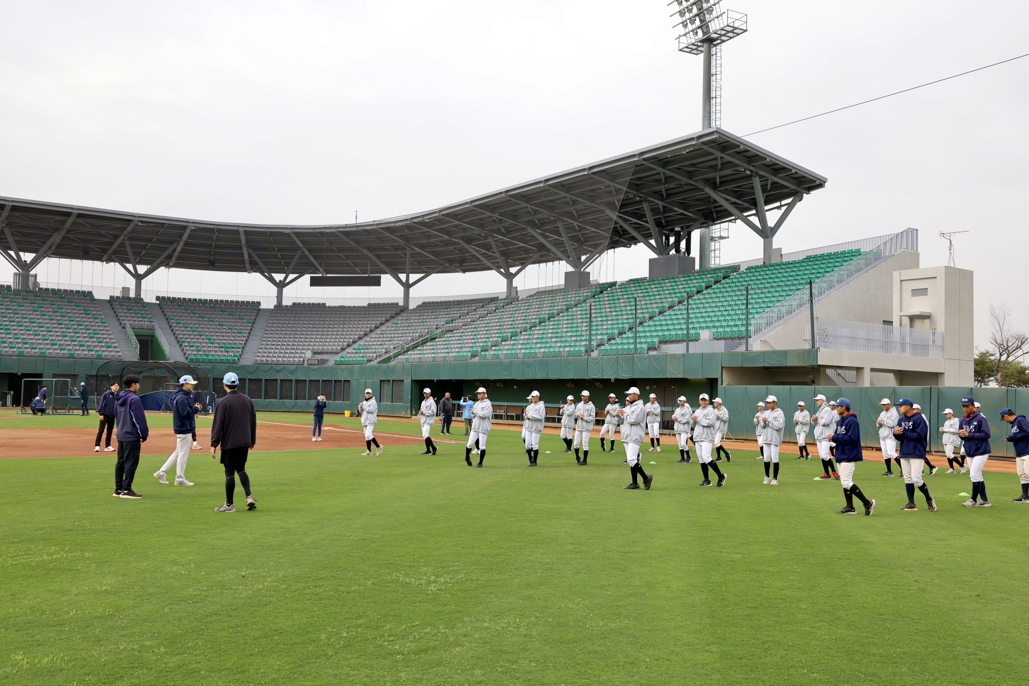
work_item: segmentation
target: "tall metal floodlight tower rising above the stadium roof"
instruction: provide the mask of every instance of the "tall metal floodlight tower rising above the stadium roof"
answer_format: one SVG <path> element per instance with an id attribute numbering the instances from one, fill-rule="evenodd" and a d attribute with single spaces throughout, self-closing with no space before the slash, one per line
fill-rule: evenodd
<path id="1" fill-rule="evenodd" d="M 720 45 L 747 32 L 747 15 L 724 9 L 721 0 L 671 0 L 680 52 L 704 56 L 701 130 L 721 123 Z"/>

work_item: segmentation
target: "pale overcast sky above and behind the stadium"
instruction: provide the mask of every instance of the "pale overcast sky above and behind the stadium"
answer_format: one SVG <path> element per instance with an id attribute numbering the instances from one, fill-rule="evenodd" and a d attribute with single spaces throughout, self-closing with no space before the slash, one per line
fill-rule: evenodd
<path id="1" fill-rule="evenodd" d="M 1029 52 L 1026 2 L 726 5 L 750 28 L 723 51 L 722 128 L 736 135 Z M 701 59 L 676 51 L 665 0 L 2 7 L 4 195 L 254 223 L 377 219 L 700 129 Z M 753 136 L 829 180 L 777 245 L 914 226 L 932 266 L 947 260 L 939 231 L 968 230 L 955 244 L 958 265 L 975 270 L 977 344 L 989 302 L 1010 303 L 1029 328 L 1027 85 L 1029 58 Z M 738 226 L 725 263 L 760 256 Z M 648 257 L 609 254 L 594 276 L 645 276 Z M 127 283 L 112 265 L 61 269 L 63 281 Z M 530 268 L 519 285 L 560 283 L 563 270 Z M 56 281 L 58 265 L 38 272 Z M 372 295 L 399 292 L 383 283 Z M 178 269 L 144 288 L 271 289 L 256 275 Z M 502 288 L 492 273 L 435 276 L 413 295 Z"/>

